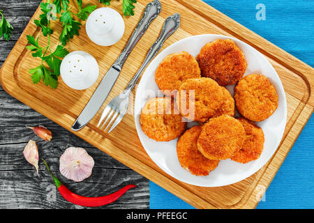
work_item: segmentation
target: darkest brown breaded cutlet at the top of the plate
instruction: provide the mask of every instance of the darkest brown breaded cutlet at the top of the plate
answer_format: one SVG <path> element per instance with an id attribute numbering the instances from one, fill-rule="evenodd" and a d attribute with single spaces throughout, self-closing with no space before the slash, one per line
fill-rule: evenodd
<path id="1" fill-rule="evenodd" d="M 207 43 L 196 59 L 202 76 L 211 77 L 221 86 L 236 84 L 246 72 L 244 53 L 230 39 Z"/>

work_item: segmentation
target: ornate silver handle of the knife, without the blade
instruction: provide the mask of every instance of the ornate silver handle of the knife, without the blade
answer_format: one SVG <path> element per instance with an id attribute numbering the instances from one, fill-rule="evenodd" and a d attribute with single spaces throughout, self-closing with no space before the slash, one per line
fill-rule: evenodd
<path id="1" fill-rule="evenodd" d="M 130 40 L 128 40 L 126 47 L 124 47 L 124 50 L 121 52 L 117 61 L 114 62 L 114 68 L 121 70 L 122 66 L 124 66 L 124 62 L 126 62 L 126 59 L 128 58 L 128 55 L 135 47 L 138 40 L 140 40 L 140 38 L 147 31 L 147 28 L 151 22 L 157 17 L 157 15 L 159 15 L 160 10 L 161 3 L 159 0 L 151 1 L 151 3 L 147 4 L 142 19 L 137 24 L 135 30 L 132 33 L 132 36 L 130 37 Z"/>

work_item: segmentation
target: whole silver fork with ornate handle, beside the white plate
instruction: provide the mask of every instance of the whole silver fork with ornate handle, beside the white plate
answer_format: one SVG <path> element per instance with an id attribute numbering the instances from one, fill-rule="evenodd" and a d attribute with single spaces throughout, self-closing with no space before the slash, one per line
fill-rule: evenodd
<path id="1" fill-rule="evenodd" d="M 107 123 L 107 121 L 109 121 L 109 123 L 107 123 L 105 130 L 104 130 L 104 131 L 106 131 L 107 128 L 109 128 L 109 126 L 111 125 L 111 123 L 114 120 L 115 121 L 112 124 L 108 133 L 110 133 L 114 128 L 116 128 L 116 126 L 120 123 L 120 121 L 122 120 L 122 118 L 124 117 L 124 115 L 126 114 L 126 112 L 128 110 L 128 102 L 129 102 L 128 98 L 129 98 L 130 92 L 132 91 L 135 84 L 137 83 L 137 80 L 140 78 L 140 76 L 142 75 L 142 72 L 147 67 L 149 62 L 159 52 L 159 50 L 163 46 L 163 43 L 165 43 L 165 40 L 167 40 L 167 38 L 169 36 L 171 36 L 172 33 L 174 33 L 174 31 L 176 31 L 179 28 L 179 26 L 180 26 L 180 15 L 179 15 L 179 13 L 175 13 L 174 15 L 167 17 L 167 19 L 165 20 L 165 22 L 163 24 L 163 29 L 160 33 L 160 36 L 158 37 L 156 42 L 149 49 L 149 52 L 147 53 L 147 56 L 144 60 L 144 63 L 142 64 L 140 69 L 137 70 L 137 73 L 135 74 L 133 79 L 131 79 L 131 81 L 128 84 L 128 86 L 126 87 L 126 89 L 122 93 L 117 95 L 115 98 L 113 98 L 109 102 L 107 107 L 105 107 L 103 114 L 100 117 L 100 120 L 98 122 L 97 127 L 100 125 L 100 123 L 102 123 L 103 119 L 107 117 L 105 119 L 103 125 L 101 126 L 101 128 L 103 128 L 105 126 L 105 124 Z"/>

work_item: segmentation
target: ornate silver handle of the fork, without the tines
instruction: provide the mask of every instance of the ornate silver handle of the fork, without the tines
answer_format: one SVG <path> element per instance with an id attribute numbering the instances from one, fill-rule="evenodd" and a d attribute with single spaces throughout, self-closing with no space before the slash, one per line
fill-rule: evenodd
<path id="1" fill-rule="evenodd" d="M 142 63 L 142 66 L 137 71 L 133 79 L 131 79 L 130 83 L 126 87 L 125 92 L 129 93 L 130 91 L 132 91 L 137 80 L 142 75 L 142 72 L 144 71 L 146 66 L 154 58 L 154 56 L 156 56 L 156 54 L 159 52 L 161 47 L 163 47 L 163 43 L 165 43 L 165 40 L 167 40 L 167 38 L 171 36 L 172 33 L 174 33 L 174 31 L 176 31 L 179 28 L 179 26 L 180 26 L 180 14 L 179 13 L 175 13 L 174 15 L 167 17 L 167 19 L 165 20 L 165 23 L 163 24 L 163 29 L 160 33 L 160 36 L 158 37 L 156 42 L 151 46 L 151 49 L 149 49 L 149 52 L 144 62 Z"/>

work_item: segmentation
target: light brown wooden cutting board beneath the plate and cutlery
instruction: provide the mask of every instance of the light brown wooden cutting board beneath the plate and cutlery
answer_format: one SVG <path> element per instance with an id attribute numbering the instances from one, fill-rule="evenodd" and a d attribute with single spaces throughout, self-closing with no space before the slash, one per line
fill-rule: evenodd
<path id="1" fill-rule="evenodd" d="M 102 6 L 96 0 L 85 2 L 97 4 L 98 7 Z M 3 63 L 0 70 L 3 89 L 37 112 L 71 131 L 71 125 L 87 104 L 100 79 L 103 78 L 105 72 L 126 45 L 130 34 L 142 17 L 147 3 L 149 3 L 149 0 L 138 1 L 135 16 L 124 17 L 126 31 L 119 43 L 111 47 L 99 47 L 91 43 L 87 33 L 82 28 L 80 36 L 75 36 L 66 45 L 69 52 L 84 50 L 94 55 L 100 66 L 100 76 L 97 83 L 84 91 L 75 91 L 68 88 L 61 78 L 59 78 L 59 86 L 56 90 L 50 89 L 43 83 L 33 84 L 31 82 L 29 68 L 38 66 L 40 61 L 33 59 L 30 52 L 25 49 L 27 45 L 26 36 L 28 34 L 36 38 L 40 36 L 40 45 L 44 45 L 47 41 L 47 38 L 43 37 L 40 30 L 33 23 L 33 20 L 38 19 L 40 15 L 40 9 L 38 8 L 12 52 L 10 52 L 8 59 Z M 112 1 L 110 7 L 121 12 L 121 1 Z M 262 169 L 239 183 L 224 187 L 197 187 L 182 183 L 165 174 L 154 164 L 142 148 L 135 130 L 134 116 L 131 114 L 126 115 L 110 134 L 106 134 L 96 127 L 107 102 L 119 94 L 135 75 L 135 72 L 144 61 L 144 56 L 147 54 L 149 47 L 158 37 L 165 18 L 173 13 L 181 14 L 181 26 L 165 42 L 163 49 L 182 38 L 197 34 L 215 33 L 233 36 L 264 54 L 276 69 L 283 83 L 287 98 L 287 125 L 281 144 L 271 160 Z M 55 22 L 52 29 L 54 29 L 54 35 L 52 35 L 51 42 L 52 49 L 54 49 L 57 46 L 59 33 L 61 32 L 59 22 Z M 241 26 L 241 24 L 234 22 L 218 10 L 211 8 L 207 3 L 200 0 L 165 0 L 162 1 L 160 15 L 152 22 L 147 33 L 144 34 L 128 57 L 117 83 L 100 112 L 85 128 L 73 133 L 196 208 L 255 208 L 313 112 L 313 86 L 313 68 Z M 133 94 L 135 95 L 135 90 Z M 133 103 L 131 104 L 133 105 Z M 133 106 L 130 106 L 129 109 L 131 113 Z"/>

